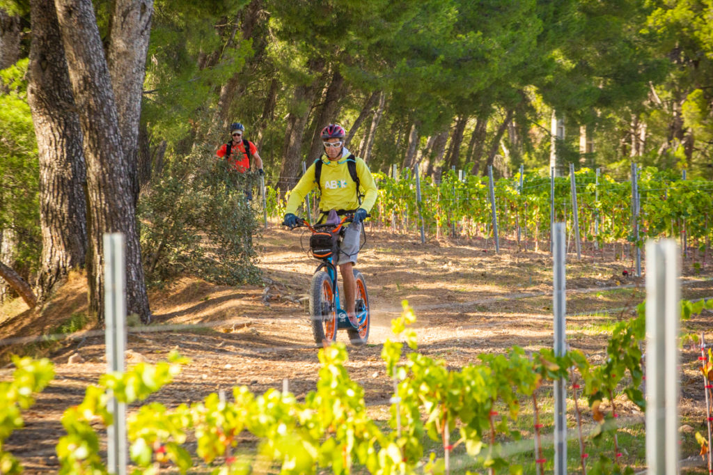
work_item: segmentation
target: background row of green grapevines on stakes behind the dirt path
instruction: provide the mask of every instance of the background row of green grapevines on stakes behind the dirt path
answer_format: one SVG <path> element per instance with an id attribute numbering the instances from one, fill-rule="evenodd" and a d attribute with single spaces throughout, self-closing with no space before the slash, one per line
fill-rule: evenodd
<path id="1" fill-rule="evenodd" d="M 596 183 L 593 170 L 575 172 L 579 225 L 583 241 L 600 244 L 633 242 L 643 245 L 647 238 L 679 237 L 688 234 L 689 242 L 699 244 L 713 239 L 709 225 L 713 197 L 709 182 L 680 180 L 671 170 L 647 167 L 640 173 L 641 210 L 640 236 L 632 235 L 631 184 L 615 181 L 610 175 L 600 175 Z M 405 170 L 397 180 L 383 173 L 374 173 L 379 198 L 371 210 L 372 220 L 390 227 L 408 230 L 419 222 L 416 206 L 416 180 Z M 518 190 L 519 176 L 501 178 L 494 185 L 498 226 L 501 235 L 515 233 L 517 226 L 525 228 L 528 238 L 548 239 L 550 233 L 550 179 L 538 174 L 523 177 L 523 192 Z M 555 178 L 555 221 L 572 225 L 571 187 L 569 177 Z M 276 193 L 270 190 L 268 195 Z M 421 180 L 421 214 L 426 233 L 448 233 L 451 223 L 458 223 L 463 233 L 473 237 L 491 235 L 491 205 L 488 198 L 488 178 L 464 175 L 463 181 L 453 171 L 443 174 L 441 183 L 431 178 Z M 268 213 L 282 217 L 277 205 Z M 598 233 L 595 222 L 598 220 Z"/>

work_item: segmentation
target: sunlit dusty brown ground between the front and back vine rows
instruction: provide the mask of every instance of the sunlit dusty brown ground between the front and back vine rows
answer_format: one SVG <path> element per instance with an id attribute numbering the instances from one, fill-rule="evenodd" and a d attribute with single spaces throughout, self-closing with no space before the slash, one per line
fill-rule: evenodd
<path id="1" fill-rule="evenodd" d="M 300 302 L 307 295 L 314 261 L 302 252 L 297 232 L 273 229 L 262 242 L 264 286 L 220 287 L 186 277 L 152 292 L 153 324 L 130 332 L 128 363 L 156 362 L 170 349 L 178 349 L 192 362 L 175 383 L 151 400 L 173 406 L 241 384 L 261 393 L 271 387 L 281 389 L 284 379 L 298 398 L 314 389 L 317 348 L 307 305 Z M 548 254 L 515 252 L 513 242 L 503 242 L 496 255 L 483 245 L 466 240 L 431 240 L 421 245 L 416 235 L 369 233 L 358 267 L 366 276 L 371 299 L 371 336 L 366 347 L 349 348 L 348 368 L 365 389 L 372 417 L 388 417 L 391 380 L 384 374 L 379 354 L 390 337 L 390 320 L 399 315 L 404 299 L 416 310 L 421 352 L 445 359 L 454 368 L 475 362 L 483 352 L 506 352 L 514 344 L 528 351 L 551 346 Z M 585 252 L 578 262 L 575 255 L 568 255 L 568 339 L 594 361 L 604 355 L 612 322 L 630 317 L 644 296 L 642 279 L 622 275 L 623 270 L 630 271 L 630 260 L 612 260 L 611 252 L 607 258 Z M 692 261 L 687 262 L 684 275 L 684 297 L 713 297 L 709 267 L 697 273 Z M 21 313 L 19 302 L 7 305 L 0 316 L 0 338 L 52 332 L 71 315 L 86 310 L 84 295 L 83 277 L 72 275 L 40 316 Z M 687 330 L 706 332 L 713 341 L 709 317 L 694 318 Z M 346 333 L 340 332 L 339 339 L 347 342 Z M 63 435 L 61 414 L 80 402 L 86 386 L 105 371 L 103 336 L 80 334 L 51 345 L 11 342 L 0 347 L 0 358 L 11 351 L 43 352 L 56 364 L 56 378 L 39 394 L 36 405 L 24 412 L 26 427 L 8 439 L 5 449 L 21 459 L 26 473 L 57 471 L 54 446 Z M 81 362 L 68 363 L 73 354 L 81 355 Z M 681 407 L 684 419 L 702 420 L 696 357 L 696 349 L 684 347 Z M 11 372 L 9 366 L 0 369 L 0 380 L 10 379 Z M 629 415 L 635 420 L 642 417 L 631 408 Z"/>

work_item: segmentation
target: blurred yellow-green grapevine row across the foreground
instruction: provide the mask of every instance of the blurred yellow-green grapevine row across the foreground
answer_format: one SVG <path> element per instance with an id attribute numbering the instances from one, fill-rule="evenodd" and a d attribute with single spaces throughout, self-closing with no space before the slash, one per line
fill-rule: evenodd
<path id="1" fill-rule="evenodd" d="M 682 316 L 713 307 L 711 302 L 682 302 Z M 411 352 L 403 359 L 404 344 L 387 340 L 382 359 L 387 374 L 394 377 L 396 391 L 391 399 L 391 430 L 384 431 L 366 414 L 364 389 L 349 378 L 344 344 L 319 351 L 317 388 L 304 402 L 293 394 L 269 389 L 252 394 L 235 387 L 232 401 L 210 394 L 202 402 L 168 409 L 151 402 L 128 418 L 130 457 L 135 473 L 158 473 L 173 464 L 180 473 L 193 469 L 193 457 L 185 446 L 195 438 L 195 454 L 212 467 L 212 474 L 247 474 L 279 470 L 284 474 L 314 474 L 320 469 L 352 473 L 364 466 L 374 474 L 443 473 L 445 462 L 436 454 L 424 458 L 424 438 L 442 443 L 446 450 L 463 445 L 478 466 L 496 471 L 522 473 L 523 467 L 503 455 L 503 441 L 519 439 L 515 424 L 520 404 L 532 399 L 541 385 L 570 379 L 576 370 L 585 382 L 583 395 L 590 400 L 599 422 L 593 436 L 602 444 L 603 434 L 615 434 L 617 424 L 613 394 L 623 390 L 642 410 L 645 401 L 638 387 L 642 382 L 640 343 L 645 337 L 645 307 L 638 316 L 619 322 L 607 344 L 606 358 L 598 366 L 579 351 L 557 356 L 551 349 L 528 355 L 519 347 L 508 354 L 481 354 L 479 362 L 450 369 L 446 362 L 417 352 L 416 321 L 404 302 L 401 317 L 391 322 L 398 339 L 405 339 Z M 713 357 L 702 364 L 710 374 Z M 1 442 L 22 421 L 21 409 L 31 406 L 32 392 L 41 390 L 53 377 L 51 363 L 15 357 L 14 380 L 0 383 L 0 461 L 4 473 L 19 473 L 21 467 L 1 451 Z M 113 424 L 108 410 L 108 391 L 127 404 L 143 401 L 169 384 L 188 360 L 170 354 L 169 362 L 140 363 L 124 373 L 106 374 L 98 385 L 88 387 L 81 404 L 66 410 L 62 424 L 67 431 L 57 446 L 61 474 L 106 473 L 99 456 L 96 422 Z M 600 403 L 607 398 L 612 412 L 602 414 Z M 504 408 L 506 413 L 499 414 Z M 498 420 L 499 419 L 499 420 Z M 246 434 L 257 438 L 257 449 L 241 447 Z M 449 439 L 456 434 L 455 439 Z M 247 439 L 250 439 L 248 437 Z M 697 437 L 700 444 L 705 441 Z M 241 450 L 242 449 L 242 450 Z M 246 450 L 247 449 L 247 450 Z M 600 454 L 590 461 L 593 473 L 632 473 L 620 466 L 618 456 Z"/>

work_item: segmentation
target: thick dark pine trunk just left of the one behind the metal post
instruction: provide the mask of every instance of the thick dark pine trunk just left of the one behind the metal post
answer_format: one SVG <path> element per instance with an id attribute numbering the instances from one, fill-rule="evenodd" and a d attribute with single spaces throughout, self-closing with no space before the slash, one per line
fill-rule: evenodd
<path id="1" fill-rule="evenodd" d="M 83 267 L 87 228 L 82 132 L 53 0 L 31 1 L 32 44 L 27 98 L 39 152 L 43 301 L 69 270 Z"/>

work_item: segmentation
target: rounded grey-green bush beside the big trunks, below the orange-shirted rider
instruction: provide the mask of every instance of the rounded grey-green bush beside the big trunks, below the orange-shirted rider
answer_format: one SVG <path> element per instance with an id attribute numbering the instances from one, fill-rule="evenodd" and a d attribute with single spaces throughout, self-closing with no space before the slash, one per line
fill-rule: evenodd
<path id="1" fill-rule="evenodd" d="M 255 282 L 252 235 L 258 229 L 245 190 L 253 173 L 228 170 L 200 150 L 168 163 L 138 205 L 147 282 L 190 273 L 210 282 Z"/>

